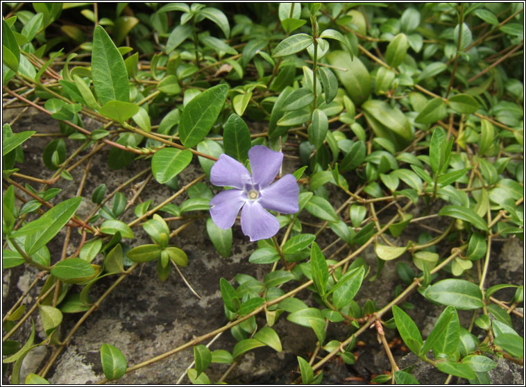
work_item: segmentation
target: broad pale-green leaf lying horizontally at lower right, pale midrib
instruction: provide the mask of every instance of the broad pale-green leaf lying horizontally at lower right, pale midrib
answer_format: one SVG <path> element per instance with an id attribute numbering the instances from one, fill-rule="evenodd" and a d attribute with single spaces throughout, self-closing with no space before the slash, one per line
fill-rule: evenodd
<path id="1" fill-rule="evenodd" d="M 449 278 L 436 282 L 427 289 L 425 297 L 464 311 L 484 306 L 479 287 L 465 279 Z"/>

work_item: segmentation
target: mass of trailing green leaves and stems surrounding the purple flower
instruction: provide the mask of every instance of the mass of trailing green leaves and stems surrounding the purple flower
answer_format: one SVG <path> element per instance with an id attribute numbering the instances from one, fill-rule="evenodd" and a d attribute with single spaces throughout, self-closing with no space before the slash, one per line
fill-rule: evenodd
<path id="1" fill-rule="evenodd" d="M 522 3 L 4 3 L 2 35 L 3 110 L 21 109 L 2 131 L 3 273 L 37 269 L 3 306 L 10 383 L 45 383 L 78 329 L 141 281 L 130 274 L 144 265 L 159 282 L 186 281 L 192 260 L 178 234 L 194 222 L 225 260 L 232 243 L 251 243 L 245 260 L 264 275 L 219 273 L 225 325 L 169 352 L 132 364 L 103 343 L 102 382 L 187 348 L 189 381 L 228 382 L 255 348 L 284 350 L 275 325 L 316 335 L 289 370 L 303 384 L 323 383 L 332 359 L 355 363 L 371 329 L 391 365 L 376 383 L 418 383 L 391 352 L 395 330 L 448 381 L 489 384 L 499 357 L 522 364 L 510 315 L 522 318 L 523 283 L 486 281 L 496 244 L 523 239 Z M 56 130 L 13 132 L 28 110 Z M 42 138 L 40 173 L 26 175 L 24 152 Z M 257 242 L 232 236 L 239 221 L 223 230 L 210 218 L 223 191 L 212 166 L 225 153 L 250 168 L 253 146 L 282 152 L 299 187 L 299 211 L 273 212 L 278 234 Z M 110 191 L 99 178 L 86 191 L 108 149 L 98 170 L 126 181 Z M 185 180 L 192 166 L 199 174 Z M 151 200 L 150 180 L 170 195 Z M 57 188 L 66 183 L 74 195 Z M 357 302 L 384 266 L 400 278 L 390 301 Z M 173 297 L 193 298 L 188 286 Z M 406 301 L 414 293 L 442 308 L 427 336 Z M 75 323 L 63 329 L 67 316 Z M 345 339 L 328 334 L 334 326 Z M 221 332 L 235 345 L 210 350 Z M 20 379 L 35 347 L 47 356 Z M 230 367 L 210 379 L 218 363 Z"/>

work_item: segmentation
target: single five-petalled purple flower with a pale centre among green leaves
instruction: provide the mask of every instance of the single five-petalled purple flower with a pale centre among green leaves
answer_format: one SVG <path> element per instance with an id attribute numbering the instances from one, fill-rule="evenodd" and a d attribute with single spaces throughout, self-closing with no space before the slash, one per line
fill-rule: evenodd
<path id="1" fill-rule="evenodd" d="M 234 188 L 219 192 L 210 200 L 210 215 L 218 227 L 226 230 L 232 227 L 241 209 L 241 230 L 251 241 L 257 241 L 280 230 L 278 219 L 265 209 L 284 214 L 298 212 L 300 189 L 293 175 L 271 184 L 280 171 L 283 153 L 256 145 L 248 150 L 248 160 L 252 175 L 243 164 L 224 154 L 212 166 L 210 182 Z"/>

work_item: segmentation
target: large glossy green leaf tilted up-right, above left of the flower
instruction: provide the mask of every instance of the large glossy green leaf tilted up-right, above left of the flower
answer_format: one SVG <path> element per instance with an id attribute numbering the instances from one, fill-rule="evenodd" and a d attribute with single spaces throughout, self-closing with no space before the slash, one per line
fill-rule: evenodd
<path id="1" fill-rule="evenodd" d="M 193 148 L 210 132 L 226 101 L 227 92 L 227 85 L 216 85 L 187 103 L 179 121 L 180 140 L 186 148 Z"/>

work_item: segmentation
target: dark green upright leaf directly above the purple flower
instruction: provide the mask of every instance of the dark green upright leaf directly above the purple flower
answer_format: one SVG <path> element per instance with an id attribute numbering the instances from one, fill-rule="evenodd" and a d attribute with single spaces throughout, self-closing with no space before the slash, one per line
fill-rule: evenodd
<path id="1" fill-rule="evenodd" d="M 251 132 L 245 121 L 237 114 L 231 114 L 223 129 L 223 145 L 225 153 L 234 157 L 239 162 L 248 159 L 248 150 L 251 148 Z"/>

